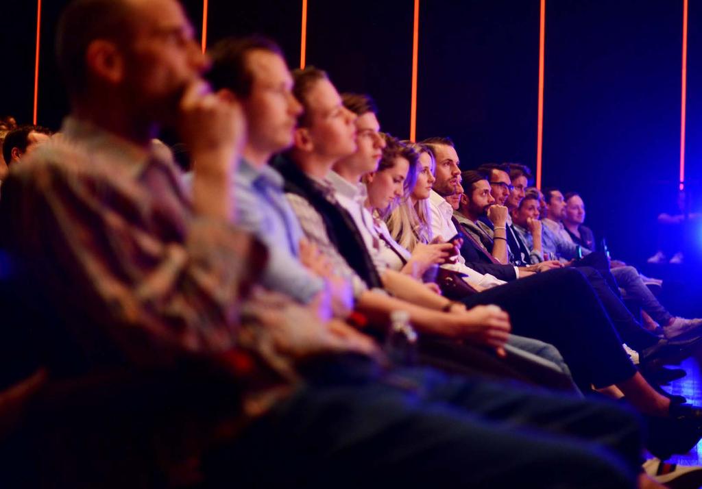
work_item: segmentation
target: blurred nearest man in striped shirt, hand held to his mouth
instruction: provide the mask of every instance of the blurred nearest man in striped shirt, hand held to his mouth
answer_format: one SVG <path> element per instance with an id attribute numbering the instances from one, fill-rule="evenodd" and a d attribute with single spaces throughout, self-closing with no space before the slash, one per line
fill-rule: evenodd
<path id="1" fill-rule="evenodd" d="M 285 86 L 258 85 L 273 73 L 260 79 L 257 70 L 274 64 L 244 65 L 253 80 L 241 74 L 252 83 L 249 97 L 237 93 L 241 105 L 209 93 L 200 78 L 208 60 L 173 0 L 77 0 L 62 15 L 57 45 L 72 116 L 65 138 L 37 148 L 8 178 L 4 247 L 32 284 L 32 298 L 55 312 L 52 337 L 77 340 L 85 371 L 115 366 L 104 356 L 110 351 L 117 366 L 173 368 L 197 357 L 239 377 L 246 415 L 232 413 L 237 435 L 218 431 L 220 448 L 202 466 L 208 487 L 633 485 L 639 431 L 614 406 L 446 382 L 428 370 L 406 382 L 360 373 L 305 382 L 301 359 L 309 368 L 318 353 L 355 352 L 360 360 L 376 351 L 343 323 L 319 321 L 282 296 L 246 299 L 265 256 L 230 225 L 230 179 L 246 105 L 282 112 L 291 105 Z M 195 162 L 192 206 L 173 162 L 152 152 L 159 126 L 174 121 Z M 51 352 L 47 361 L 60 356 L 53 346 L 41 345 Z M 168 439 L 179 434 L 173 426 Z M 509 467 L 496 470 L 505 457 Z M 117 475 L 100 474 L 109 466 L 81 459 L 41 470 L 64 471 L 51 481 L 71 474 L 105 487 Z M 138 475 L 164 483 L 160 467 Z M 72 487 L 89 487 L 88 480 Z"/>

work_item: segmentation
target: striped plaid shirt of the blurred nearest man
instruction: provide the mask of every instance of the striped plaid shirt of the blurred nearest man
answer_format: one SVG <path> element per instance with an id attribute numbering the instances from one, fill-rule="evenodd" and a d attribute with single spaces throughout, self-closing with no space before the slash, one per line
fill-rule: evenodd
<path id="1" fill-rule="evenodd" d="M 1 201 L 5 245 L 44 307 L 88 357 L 110 344 L 135 366 L 237 366 L 247 412 L 263 412 L 296 373 L 261 326 L 281 317 L 240 298 L 265 264 L 260 244 L 195 215 L 157 152 L 77 119 L 61 132 L 13 168 Z"/>

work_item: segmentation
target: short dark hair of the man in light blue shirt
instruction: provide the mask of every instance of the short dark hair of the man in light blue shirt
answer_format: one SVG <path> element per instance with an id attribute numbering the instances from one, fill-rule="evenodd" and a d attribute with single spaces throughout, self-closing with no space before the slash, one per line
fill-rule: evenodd
<path id="1" fill-rule="evenodd" d="M 212 68 L 206 77 L 212 88 L 227 88 L 237 97 L 248 97 L 251 93 L 253 74 L 246 61 L 246 55 L 251 51 L 267 51 L 284 58 L 280 46 L 264 36 L 222 39 L 208 51 L 212 59 Z"/>

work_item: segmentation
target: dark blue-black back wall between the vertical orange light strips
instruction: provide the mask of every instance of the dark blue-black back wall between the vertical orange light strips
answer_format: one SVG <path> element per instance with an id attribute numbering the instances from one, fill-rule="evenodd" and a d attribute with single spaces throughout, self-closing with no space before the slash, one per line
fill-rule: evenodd
<path id="1" fill-rule="evenodd" d="M 67 111 L 53 62 L 65 0 L 44 0 L 39 123 Z M 184 2 L 200 34 L 201 0 Z M 209 0 L 208 43 L 259 32 L 300 60 L 302 1 Z M 0 112 L 31 122 L 36 2 L 4 8 Z M 383 128 L 409 135 L 413 0 L 310 0 L 307 63 L 340 91 L 371 93 Z M 450 135 L 462 166 L 522 161 L 535 170 L 539 0 L 432 0 L 420 8 L 418 138 Z M 682 0 L 549 1 L 543 186 L 578 190 L 616 255 L 654 252 L 654 219 L 677 188 Z M 690 0 L 687 177 L 702 180 L 702 1 Z"/>

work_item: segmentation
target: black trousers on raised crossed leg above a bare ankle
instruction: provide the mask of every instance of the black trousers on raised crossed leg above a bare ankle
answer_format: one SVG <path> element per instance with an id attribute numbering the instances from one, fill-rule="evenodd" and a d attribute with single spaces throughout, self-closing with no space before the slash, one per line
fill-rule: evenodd
<path id="1" fill-rule="evenodd" d="M 529 276 L 465 297 L 467 307 L 497 304 L 512 331 L 554 345 L 581 390 L 606 387 L 636 373 L 602 302 L 581 269 Z"/>

